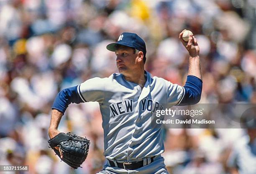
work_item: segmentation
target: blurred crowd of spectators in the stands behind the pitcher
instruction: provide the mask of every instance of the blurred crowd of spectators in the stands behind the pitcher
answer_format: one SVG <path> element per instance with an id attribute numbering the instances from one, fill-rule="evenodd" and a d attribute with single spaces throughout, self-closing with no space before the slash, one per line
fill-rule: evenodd
<path id="1" fill-rule="evenodd" d="M 0 165 L 29 165 L 28 174 L 100 171 L 97 103 L 71 104 L 59 126 L 91 140 L 83 168 L 70 169 L 48 147 L 56 94 L 118 72 L 106 45 L 122 32 L 146 41 L 147 71 L 183 86 L 188 54 L 178 36 L 184 29 L 200 45 L 200 103 L 256 103 L 256 0 L 0 0 Z M 166 167 L 170 174 L 237 174 L 236 149 L 248 148 L 243 163 L 251 167 L 239 170 L 255 174 L 256 133 L 249 132 L 164 129 Z M 7 173 L 24 172 L 0 171 Z"/>

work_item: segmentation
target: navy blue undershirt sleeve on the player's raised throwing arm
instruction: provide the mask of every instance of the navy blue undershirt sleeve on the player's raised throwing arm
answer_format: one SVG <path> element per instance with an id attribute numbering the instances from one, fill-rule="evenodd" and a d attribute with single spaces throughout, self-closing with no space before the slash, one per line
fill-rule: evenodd
<path id="1" fill-rule="evenodd" d="M 202 80 L 196 76 L 187 76 L 184 87 L 184 97 L 179 106 L 196 104 L 201 99 Z"/>

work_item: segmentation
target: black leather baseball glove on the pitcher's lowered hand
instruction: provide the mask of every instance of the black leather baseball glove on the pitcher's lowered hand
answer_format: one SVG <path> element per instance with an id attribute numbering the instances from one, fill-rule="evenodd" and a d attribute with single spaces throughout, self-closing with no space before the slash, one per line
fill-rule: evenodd
<path id="1" fill-rule="evenodd" d="M 77 169 L 87 158 L 90 140 L 68 132 L 56 135 L 48 143 L 62 161 Z M 55 148 L 56 146 L 59 150 Z"/>

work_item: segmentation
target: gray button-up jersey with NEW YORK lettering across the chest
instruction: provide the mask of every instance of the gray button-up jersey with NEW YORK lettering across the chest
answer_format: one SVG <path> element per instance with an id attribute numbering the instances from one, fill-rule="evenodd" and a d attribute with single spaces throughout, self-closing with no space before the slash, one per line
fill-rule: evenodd
<path id="1" fill-rule="evenodd" d="M 122 74 L 92 78 L 77 90 L 82 100 L 97 101 L 104 129 L 104 156 L 129 161 L 164 152 L 161 128 L 152 129 L 151 116 L 162 103 L 177 105 L 184 88 L 146 72 L 143 89 L 124 79 Z"/>

